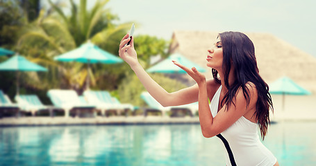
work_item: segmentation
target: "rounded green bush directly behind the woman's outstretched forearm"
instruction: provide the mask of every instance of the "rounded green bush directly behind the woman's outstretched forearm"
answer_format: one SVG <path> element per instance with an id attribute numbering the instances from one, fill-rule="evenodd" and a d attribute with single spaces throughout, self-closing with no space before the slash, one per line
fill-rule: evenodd
<path id="1" fill-rule="evenodd" d="M 186 87 L 185 84 L 166 77 L 163 74 L 155 73 L 149 75 L 169 93 Z M 126 76 L 117 89 L 121 102 L 131 103 L 134 106 L 140 107 L 146 106 L 144 101 L 140 98 L 142 91 L 146 91 L 146 89 L 144 89 L 144 86 L 135 74 Z"/>

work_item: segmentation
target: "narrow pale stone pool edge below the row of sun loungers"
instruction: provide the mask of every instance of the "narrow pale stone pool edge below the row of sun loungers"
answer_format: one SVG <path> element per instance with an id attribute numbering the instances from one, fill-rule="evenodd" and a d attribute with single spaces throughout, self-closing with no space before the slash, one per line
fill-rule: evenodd
<path id="1" fill-rule="evenodd" d="M 199 124 L 198 117 L 169 118 L 161 116 L 111 116 L 96 118 L 22 117 L 1 118 L 0 127 L 49 125 L 138 125 L 138 124 Z"/>

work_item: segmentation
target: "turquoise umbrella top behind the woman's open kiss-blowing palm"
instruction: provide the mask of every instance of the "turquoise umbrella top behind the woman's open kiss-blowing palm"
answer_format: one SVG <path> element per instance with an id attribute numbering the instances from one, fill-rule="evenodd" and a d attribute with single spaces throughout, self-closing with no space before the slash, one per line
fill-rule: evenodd
<path id="1" fill-rule="evenodd" d="M 186 73 L 183 71 L 182 68 L 179 68 L 178 66 L 174 65 L 172 60 L 175 60 L 176 62 L 183 64 L 183 66 L 187 66 L 188 68 L 195 67 L 197 68 L 197 71 L 199 72 L 206 72 L 205 68 L 202 68 L 198 64 L 195 64 L 194 62 L 190 61 L 189 59 L 183 57 L 180 53 L 174 53 L 167 57 L 167 59 L 164 59 L 161 62 L 158 62 L 158 64 L 155 64 L 154 66 L 151 66 L 151 68 L 147 69 L 147 72 L 149 73 L 178 73 L 178 74 L 184 74 Z"/>

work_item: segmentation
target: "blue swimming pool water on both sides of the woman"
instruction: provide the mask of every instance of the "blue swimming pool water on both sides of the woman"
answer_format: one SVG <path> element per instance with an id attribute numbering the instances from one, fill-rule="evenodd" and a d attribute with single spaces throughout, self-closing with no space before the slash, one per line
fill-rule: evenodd
<path id="1" fill-rule="evenodd" d="M 272 124 L 280 165 L 316 165 L 316 122 Z M 0 128 L 0 165 L 225 165 L 199 124 Z"/>

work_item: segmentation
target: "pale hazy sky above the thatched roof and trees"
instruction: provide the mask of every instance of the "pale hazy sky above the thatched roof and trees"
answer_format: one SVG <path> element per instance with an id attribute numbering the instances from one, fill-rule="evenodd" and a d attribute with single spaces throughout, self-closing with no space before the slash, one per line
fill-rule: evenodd
<path id="1" fill-rule="evenodd" d="M 174 30 L 269 33 L 316 57 L 315 7 L 313 0 L 110 0 L 106 5 L 118 15 L 117 23 L 135 22 L 134 35 L 171 39 Z"/>

